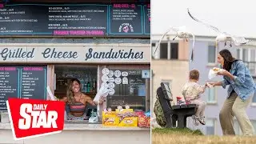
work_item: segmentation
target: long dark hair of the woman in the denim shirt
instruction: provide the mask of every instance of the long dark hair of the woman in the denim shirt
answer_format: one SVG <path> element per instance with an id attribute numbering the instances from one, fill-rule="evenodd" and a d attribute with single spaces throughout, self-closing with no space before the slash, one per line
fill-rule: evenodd
<path id="1" fill-rule="evenodd" d="M 232 63 L 237 61 L 238 59 L 234 58 L 230 53 L 230 50 L 221 50 L 219 54 L 224 58 L 223 69 L 230 71 Z"/>

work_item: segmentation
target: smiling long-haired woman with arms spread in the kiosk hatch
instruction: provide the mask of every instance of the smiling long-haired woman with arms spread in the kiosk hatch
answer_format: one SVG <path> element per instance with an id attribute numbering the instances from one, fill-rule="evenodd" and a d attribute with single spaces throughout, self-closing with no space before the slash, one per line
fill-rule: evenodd
<path id="1" fill-rule="evenodd" d="M 92 106 L 98 105 L 90 96 L 81 92 L 81 82 L 77 78 L 73 78 L 67 87 L 66 97 L 58 99 L 66 102 L 70 108 L 70 113 L 67 114 L 67 120 L 86 120 L 86 103 Z M 103 98 L 100 98 L 99 104 L 102 104 Z"/>

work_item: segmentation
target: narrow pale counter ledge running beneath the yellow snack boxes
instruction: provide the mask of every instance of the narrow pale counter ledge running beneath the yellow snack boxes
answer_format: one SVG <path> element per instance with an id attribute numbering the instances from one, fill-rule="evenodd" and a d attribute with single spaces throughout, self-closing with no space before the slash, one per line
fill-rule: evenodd
<path id="1" fill-rule="evenodd" d="M 10 123 L 1 123 L 0 130 L 10 130 Z M 114 127 L 102 126 L 102 124 L 88 124 L 88 123 L 64 123 L 64 130 L 141 130 L 150 131 L 150 128 L 140 127 Z"/>

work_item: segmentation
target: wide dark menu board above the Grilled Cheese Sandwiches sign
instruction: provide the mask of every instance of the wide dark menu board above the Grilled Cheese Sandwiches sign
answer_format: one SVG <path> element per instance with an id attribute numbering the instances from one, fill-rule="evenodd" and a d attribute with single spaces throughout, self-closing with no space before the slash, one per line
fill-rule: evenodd
<path id="1" fill-rule="evenodd" d="M 130 3 L 0 4 L 0 36 L 149 37 L 149 10 Z"/>

